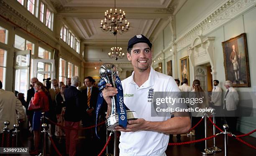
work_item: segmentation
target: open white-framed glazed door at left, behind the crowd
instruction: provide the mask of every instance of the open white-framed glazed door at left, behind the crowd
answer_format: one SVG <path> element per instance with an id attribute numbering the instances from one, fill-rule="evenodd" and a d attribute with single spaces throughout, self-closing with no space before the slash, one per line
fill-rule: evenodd
<path id="1" fill-rule="evenodd" d="M 16 51 L 14 59 L 14 90 L 27 97 L 30 79 L 31 50 Z"/>

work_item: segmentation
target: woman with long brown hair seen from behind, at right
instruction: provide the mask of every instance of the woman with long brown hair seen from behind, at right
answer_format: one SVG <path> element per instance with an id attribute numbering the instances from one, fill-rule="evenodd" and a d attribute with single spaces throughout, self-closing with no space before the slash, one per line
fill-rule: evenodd
<path id="1" fill-rule="evenodd" d="M 205 108 L 208 107 L 208 100 L 207 100 L 207 96 L 205 96 L 205 92 L 202 89 L 202 87 L 200 86 L 200 81 L 198 79 L 195 79 L 193 81 L 193 90 L 191 91 L 191 94 L 189 94 L 189 97 L 192 98 L 202 98 L 202 102 L 198 102 L 195 103 L 194 105 L 190 105 L 192 106 L 192 108 L 195 110 L 196 107 L 199 108 Z M 197 124 L 202 116 L 204 115 L 204 113 L 202 112 L 192 112 L 192 127 Z M 201 138 L 205 138 L 205 124 L 204 122 L 201 122 L 199 125 L 197 125 L 195 127 L 195 140 L 201 139 Z M 198 148 L 200 151 L 204 151 L 205 149 L 205 142 L 199 142 L 199 143 L 195 143 L 196 148 Z"/>

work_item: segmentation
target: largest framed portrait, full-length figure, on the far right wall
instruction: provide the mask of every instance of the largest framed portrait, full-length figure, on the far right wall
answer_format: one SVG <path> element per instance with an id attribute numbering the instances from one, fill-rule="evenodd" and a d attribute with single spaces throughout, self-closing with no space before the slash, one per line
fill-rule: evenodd
<path id="1" fill-rule="evenodd" d="M 225 78 L 233 87 L 251 87 L 246 33 L 222 42 Z"/>

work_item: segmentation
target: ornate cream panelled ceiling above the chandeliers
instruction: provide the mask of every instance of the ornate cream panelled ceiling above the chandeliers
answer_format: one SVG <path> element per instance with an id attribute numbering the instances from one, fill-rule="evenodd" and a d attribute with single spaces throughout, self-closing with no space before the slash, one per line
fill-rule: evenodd
<path id="1" fill-rule="evenodd" d="M 144 34 L 151 40 L 169 17 L 177 13 L 186 0 L 116 0 L 116 8 L 126 13 L 130 30 L 118 35 L 118 46 L 126 46 L 136 34 Z M 113 46 L 115 36 L 100 29 L 104 12 L 114 8 L 114 0 L 51 0 L 69 28 L 86 46 Z"/>

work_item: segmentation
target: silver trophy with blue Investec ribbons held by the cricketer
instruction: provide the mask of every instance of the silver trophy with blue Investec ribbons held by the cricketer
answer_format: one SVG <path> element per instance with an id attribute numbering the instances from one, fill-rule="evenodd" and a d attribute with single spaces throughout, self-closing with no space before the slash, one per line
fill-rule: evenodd
<path id="1" fill-rule="evenodd" d="M 105 63 L 100 66 L 100 77 L 104 79 L 107 83 L 115 86 L 115 76 L 118 75 L 118 71 L 116 66 L 111 63 Z M 116 104 L 116 96 L 111 98 L 111 110 L 110 115 L 106 120 L 107 130 L 115 130 L 115 127 L 118 126 L 118 113 L 117 113 L 117 104 Z M 131 110 L 126 110 L 127 121 L 138 119 L 136 112 Z"/>

